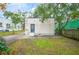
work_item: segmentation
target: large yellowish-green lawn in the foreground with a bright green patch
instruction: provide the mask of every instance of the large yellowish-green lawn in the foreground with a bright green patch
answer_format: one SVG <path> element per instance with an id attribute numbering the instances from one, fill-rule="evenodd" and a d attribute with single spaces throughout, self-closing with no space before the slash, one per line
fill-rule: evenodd
<path id="1" fill-rule="evenodd" d="M 16 54 L 79 55 L 79 41 L 65 37 L 22 39 L 9 45 Z"/>

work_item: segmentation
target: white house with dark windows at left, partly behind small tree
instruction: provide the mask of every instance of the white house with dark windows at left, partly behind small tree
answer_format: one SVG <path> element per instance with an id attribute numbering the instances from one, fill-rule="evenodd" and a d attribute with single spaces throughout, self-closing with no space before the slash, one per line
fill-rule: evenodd
<path id="1" fill-rule="evenodd" d="M 15 31 L 21 30 L 21 24 L 17 24 L 16 28 L 13 28 L 12 21 L 10 19 L 0 18 L 0 31 Z"/>

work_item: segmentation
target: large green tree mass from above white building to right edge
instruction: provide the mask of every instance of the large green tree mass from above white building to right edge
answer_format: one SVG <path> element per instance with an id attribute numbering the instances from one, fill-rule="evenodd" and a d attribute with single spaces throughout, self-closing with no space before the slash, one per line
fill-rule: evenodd
<path id="1" fill-rule="evenodd" d="M 34 15 L 40 17 L 42 22 L 47 20 L 47 18 L 54 18 L 57 21 L 58 32 L 62 32 L 70 18 L 79 17 L 79 4 L 68 4 L 68 3 L 49 3 L 40 4 L 35 9 Z M 65 24 L 62 26 L 62 21 Z"/>

